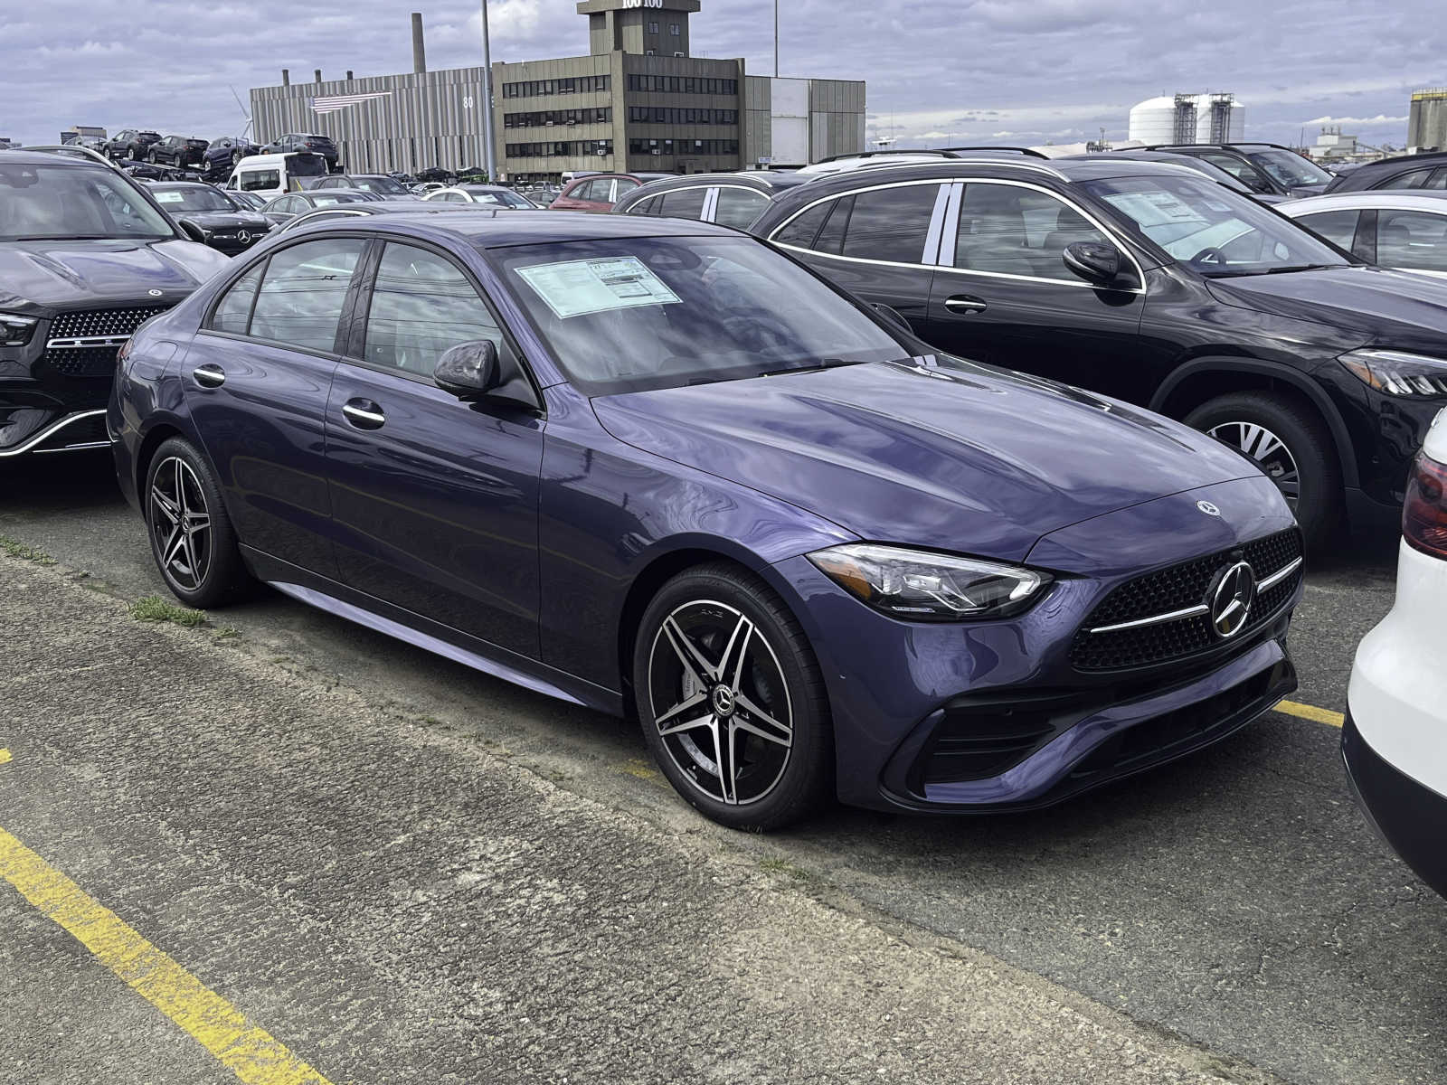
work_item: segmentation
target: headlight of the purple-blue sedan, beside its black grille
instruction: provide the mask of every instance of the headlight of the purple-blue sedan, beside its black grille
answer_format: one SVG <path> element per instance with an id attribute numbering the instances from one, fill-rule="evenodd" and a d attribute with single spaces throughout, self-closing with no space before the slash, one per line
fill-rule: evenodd
<path id="1" fill-rule="evenodd" d="M 809 554 L 839 587 L 893 618 L 959 622 L 1020 613 L 1051 583 L 1048 573 L 974 557 L 849 542 Z"/>

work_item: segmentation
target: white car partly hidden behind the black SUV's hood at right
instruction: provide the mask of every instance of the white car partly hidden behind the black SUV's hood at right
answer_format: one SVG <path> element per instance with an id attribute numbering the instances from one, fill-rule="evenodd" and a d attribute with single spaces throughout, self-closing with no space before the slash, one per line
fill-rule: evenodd
<path id="1" fill-rule="evenodd" d="M 1311 195 L 1275 210 L 1367 263 L 1447 278 L 1447 192 Z"/>

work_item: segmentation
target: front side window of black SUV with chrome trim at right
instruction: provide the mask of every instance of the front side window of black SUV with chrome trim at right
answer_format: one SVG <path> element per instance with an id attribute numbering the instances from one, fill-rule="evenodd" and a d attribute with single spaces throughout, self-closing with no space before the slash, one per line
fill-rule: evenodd
<path id="1" fill-rule="evenodd" d="M 1075 242 L 1110 243 L 1078 211 L 1035 188 L 965 185 L 955 266 L 996 275 L 1079 282 L 1064 263 Z"/>

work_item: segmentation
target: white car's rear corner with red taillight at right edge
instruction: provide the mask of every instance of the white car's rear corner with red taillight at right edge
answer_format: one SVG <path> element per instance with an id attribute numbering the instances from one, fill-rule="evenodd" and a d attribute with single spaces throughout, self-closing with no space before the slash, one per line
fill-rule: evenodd
<path id="1" fill-rule="evenodd" d="M 1357 648 L 1341 757 L 1367 817 L 1447 897 L 1447 409 L 1402 511 L 1392 612 Z"/>

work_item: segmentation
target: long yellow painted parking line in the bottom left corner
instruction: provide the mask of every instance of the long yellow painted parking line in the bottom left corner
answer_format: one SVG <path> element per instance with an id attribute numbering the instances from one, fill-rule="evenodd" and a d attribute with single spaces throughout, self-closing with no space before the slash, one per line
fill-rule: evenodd
<path id="1" fill-rule="evenodd" d="M 247 1085 L 331 1085 L 4 829 L 0 877 Z"/>

